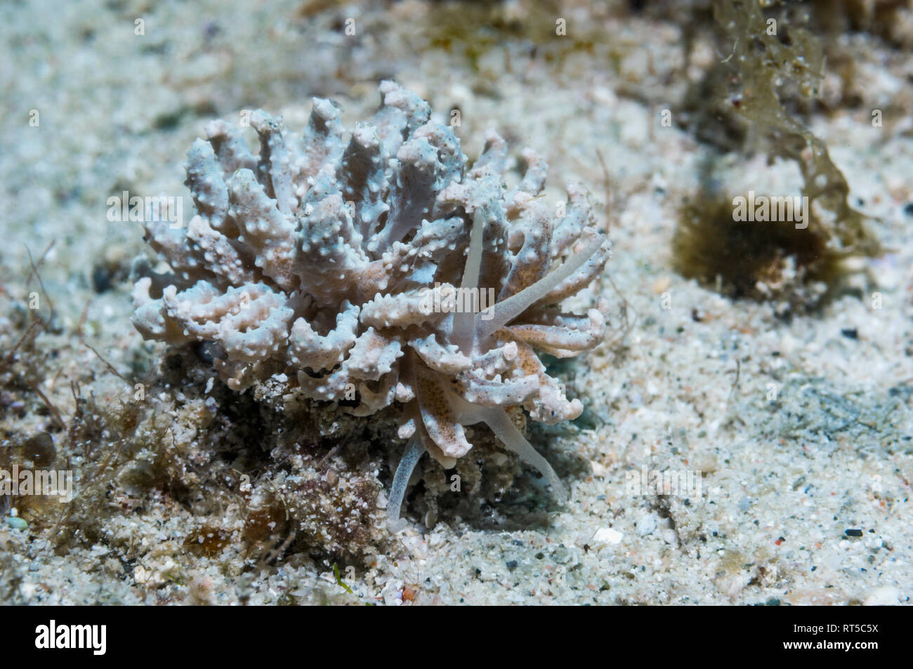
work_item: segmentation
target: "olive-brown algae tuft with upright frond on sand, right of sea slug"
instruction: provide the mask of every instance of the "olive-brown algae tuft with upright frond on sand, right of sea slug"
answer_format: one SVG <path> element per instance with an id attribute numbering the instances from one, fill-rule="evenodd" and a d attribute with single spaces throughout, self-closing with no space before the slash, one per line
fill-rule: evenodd
<path id="1" fill-rule="evenodd" d="M 778 4 L 762 11 L 742 0 L 713 6 L 724 57 L 690 91 L 687 124 L 711 151 L 761 151 L 771 163 L 794 162 L 803 178 L 803 220 L 792 225 L 794 218 L 777 220 L 771 212 L 766 222 L 748 223 L 739 218 L 738 201 L 754 200 L 754 193 L 699 193 L 681 209 L 677 265 L 687 277 L 720 277 L 735 295 L 814 308 L 853 267 L 845 260 L 881 253 L 866 216 L 848 202 L 844 174 L 803 121 L 820 96 L 824 49 L 807 13 Z M 707 172 L 710 183 L 716 175 L 712 167 Z"/>

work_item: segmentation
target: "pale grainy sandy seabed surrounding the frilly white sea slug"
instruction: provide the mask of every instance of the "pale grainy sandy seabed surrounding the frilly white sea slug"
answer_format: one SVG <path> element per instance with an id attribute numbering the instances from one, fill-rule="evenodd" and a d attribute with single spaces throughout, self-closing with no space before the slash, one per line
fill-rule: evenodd
<path id="1" fill-rule="evenodd" d="M 887 251 L 821 308 L 782 318 L 775 303 L 676 271 L 679 208 L 708 148 L 663 111 L 677 113 L 718 54 L 699 37 L 686 50 L 695 19 L 691 4 L 674 5 L 0 5 L 0 451 L 47 432 L 53 467 L 75 479 L 71 501 L 0 501 L 0 601 L 908 603 L 913 51 L 840 37 L 856 76 L 825 77 L 827 113 L 808 122 Z M 319 96 L 341 102 L 352 127 L 382 78 L 428 99 L 439 120 L 459 110 L 470 158 L 495 128 L 512 154 L 530 146 L 549 162 L 547 196 L 560 199 L 569 179 L 589 188 L 614 251 L 572 306 L 608 299 L 613 331 L 561 368 L 582 418 L 530 429 L 568 504 L 488 455 L 518 473 L 503 498 L 472 514 L 413 499 L 406 528 L 367 528 L 352 549 L 320 528 L 330 512 L 285 500 L 299 513 L 291 531 L 215 490 L 270 455 L 247 439 L 243 458 L 232 444 L 226 456 L 218 435 L 237 434 L 247 413 L 226 417 L 228 392 L 212 393 L 199 364 L 184 373 L 131 326 L 131 260 L 147 249 L 141 225 L 110 220 L 108 198 L 185 196 L 184 154 L 205 120 L 263 108 L 300 128 Z M 798 193 L 789 164 L 716 160 L 734 190 Z M 126 413 L 135 382 L 150 379 L 142 412 Z M 321 434 L 349 429 L 321 420 Z M 319 479 L 312 495 L 334 477 L 367 481 L 383 500 L 388 447 L 362 443 L 356 457 L 320 442 L 320 467 L 270 481 Z M 441 478 L 434 467 L 424 476 Z M 687 485 L 656 494 L 656 473 Z"/>

